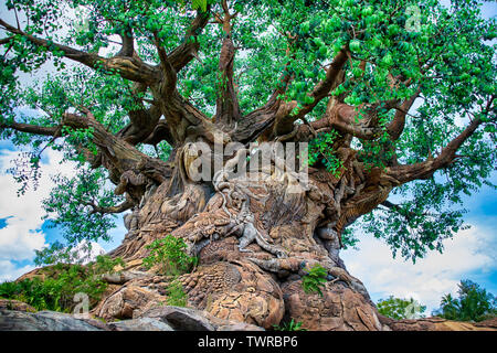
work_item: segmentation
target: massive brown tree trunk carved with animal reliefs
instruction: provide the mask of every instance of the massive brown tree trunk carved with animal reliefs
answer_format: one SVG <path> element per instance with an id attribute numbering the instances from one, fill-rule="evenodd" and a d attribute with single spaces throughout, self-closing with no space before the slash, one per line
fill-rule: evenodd
<path id="1" fill-rule="evenodd" d="M 123 257 L 127 270 L 139 269 L 146 245 L 172 234 L 199 257 L 195 269 L 179 278 L 190 307 L 265 329 L 294 319 L 309 330 L 381 330 L 374 304 L 347 271 L 339 249 L 346 224 L 384 201 L 390 189 L 347 173 L 357 170 L 349 165 L 351 159 L 341 178 L 310 169 L 307 188 L 274 161 L 251 180 L 225 178 L 239 154 L 212 182 L 194 183 L 187 164 L 198 152 L 191 143 L 177 149 L 175 176 L 147 190 L 139 210 L 126 218 L 129 233 L 110 255 Z M 328 272 L 322 296 L 303 288 L 303 277 L 316 264 Z M 94 313 L 136 317 L 167 301 L 170 281 L 150 274 L 134 278 L 104 298 Z"/>

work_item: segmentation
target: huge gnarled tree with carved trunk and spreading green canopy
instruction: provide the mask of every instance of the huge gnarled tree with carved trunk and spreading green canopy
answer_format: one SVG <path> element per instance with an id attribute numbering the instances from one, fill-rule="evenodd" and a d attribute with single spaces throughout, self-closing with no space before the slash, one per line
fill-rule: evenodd
<path id="1" fill-rule="evenodd" d="M 67 240 L 54 249 L 106 238 L 113 216 L 133 210 L 110 255 L 137 264 L 155 239 L 182 238 L 200 260 L 181 277 L 189 304 L 214 315 L 271 327 L 285 312 L 311 329 L 379 329 L 339 258 L 357 242 L 349 226 L 362 217 L 367 233 L 415 259 L 442 250 L 462 226 L 462 196 L 490 184 L 497 32 L 477 1 L 7 7 L 0 132 L 30 150 L 11 172 L 22 192 L 46 148 L 78 165 L 45 201 Z M 22 73 L 33 72 L 43 78 L 28 84 Z M 285 156 L 300 168 L 307 160 L 308 185 L 295 191 L 305 169 L 281 168 L 275 151 L 271 168 L 248 163 L 264 152 L 253 142 L 308 142 L 307 156 Z M 200 180 L 199 157 L 214 167 L 204 163 Z M 233 178 L 244 165 L 258 178 Z M 321 301 L 300 286 L 316 264 L 329 279 Z M 162 300 L 140 280 L 96 313 L 129 317 L 144 302 L 123 298 L 140 286 L 152 292 L 146 304 Z"/>

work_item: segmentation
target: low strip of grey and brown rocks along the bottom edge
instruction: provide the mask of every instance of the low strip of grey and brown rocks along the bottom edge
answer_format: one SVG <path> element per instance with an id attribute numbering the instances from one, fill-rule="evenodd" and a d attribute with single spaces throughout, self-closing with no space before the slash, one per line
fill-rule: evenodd
<path id="1" fill-rule="evenodd" d="M 311 311 L 313 308 L 309 309 Z M 326 310 L 326 308 L 325 308 Z M 346 311 L 348 309 L 345 309 Z M 359 311 L 358 311 L 359 312 Z M 317 322 L 310 330 L 342 330 L 336 321 Z M 364 327 L 371 324 L 364 322 Z M 496 319 L 479 323 L 448 321 L 440 318 L 392 320 L 379 315 L 383 331 L 497 331 Z M 356 328 L 361 330 L 362 328 Z M 366 330 L 374 330 L 373 327 Z M 15 301 L 0 300 L 0 331 L 265 331 L 263 328 L 234 320 L 222 320 L 209 312 L 179 307 L 157 307 L 134 319 L 106 322 L 78 318 L 68 313 L 39 311 Z"/>

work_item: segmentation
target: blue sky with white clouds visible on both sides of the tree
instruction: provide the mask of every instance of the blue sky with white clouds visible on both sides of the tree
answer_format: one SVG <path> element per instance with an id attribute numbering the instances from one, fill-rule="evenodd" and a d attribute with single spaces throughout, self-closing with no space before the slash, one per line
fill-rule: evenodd
<path id="1" fill-rule="evenodd" d="M 0 1 L 2 12 L 3 3 Z M 486 3 L 484 14 L 495 17 L 496 2 Z M 42 220 L 41 201 L 53 186 L 51 175 L 74 173 L 71 165 L 60 164 L 59 152 L 47 149 L 42 159 L 40 186 L 18 197 L 19 185 L 7 173 L 18 153 L 9 141 L 0 141 L 0 281 L 13 280 L 34 268 L 34 250 L 61 239 L 60 231 L 47 228 L 47 222 Z M 497 183 L 497 174 L 493 175 L 493 182 Z M 413 297 L 426 304 L 430 313 L 438 307 L 443 295 L 456 292 L 461 279 L 472 279 L 497 295 L 497 192 L 485 186 L 467 197 L 466 207 L 469 212 L 465 221 L 470 228 L 445 240 L 443 254 L 429 253 L 415 265 L 400 257 L 393 259 L 384 243 L 367 234 L 361 235 L 359 249 L 342 252 L 341 256 L 374 301 L 390 295 Z M 113 240 L 101 243 L 105 250 L 120 244 L 126 233 L 121 221 L 117 223 L 118 227 L 112 232 Z"/>

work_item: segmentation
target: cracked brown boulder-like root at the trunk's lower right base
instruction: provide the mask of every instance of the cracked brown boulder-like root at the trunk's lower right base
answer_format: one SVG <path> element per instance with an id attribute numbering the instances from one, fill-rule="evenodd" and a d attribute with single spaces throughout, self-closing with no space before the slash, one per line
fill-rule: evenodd
<path id="1" fill-rule="evenodd" d="M 286 319 L 302 322 L 309 331 L 380 331 L 376 308 L 341 282 L 327 282 L 318 293 L 306 293 L 302 280 L 282 287 Z"/>

